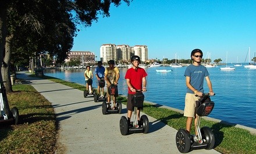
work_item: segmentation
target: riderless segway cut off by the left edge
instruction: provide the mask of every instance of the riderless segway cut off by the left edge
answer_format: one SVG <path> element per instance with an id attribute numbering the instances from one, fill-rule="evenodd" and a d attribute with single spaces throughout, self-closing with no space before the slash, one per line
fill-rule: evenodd
<path id="1" fill-rule="evenodd" d="M 19 124 L 19 111 L 16 107 L 13 107 L 12 110 L 9 108 L 9 104 L 3 103 L 3 96 L 6 96 L 5 86 L 3 83 L 0 83 L 0 123 L 8 123 L 11 122 L 12 124 Z M 3 95 L 4 94 L 4 95 Z M 6 113 L 6 110 L 9 111 L 9 115 Z"/>

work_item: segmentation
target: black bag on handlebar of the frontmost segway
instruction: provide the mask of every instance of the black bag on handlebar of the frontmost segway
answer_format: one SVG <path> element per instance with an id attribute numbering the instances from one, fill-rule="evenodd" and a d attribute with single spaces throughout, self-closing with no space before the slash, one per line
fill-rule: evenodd
<path id="1" fill-rule="evenodd" d="M 197 115 L 198 116 L 208 116 L 212 109 L 214 109 L 214 102 L 211 101 L 211 98 L 208 97 L 201 97 L 198 101 L 195 101 L 197 105 Z"/>

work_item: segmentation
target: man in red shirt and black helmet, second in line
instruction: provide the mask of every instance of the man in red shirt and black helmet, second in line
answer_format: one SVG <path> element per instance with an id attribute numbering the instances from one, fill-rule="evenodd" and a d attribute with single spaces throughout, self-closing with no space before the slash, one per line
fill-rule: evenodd
<path id="1" fill-rule="evenodd" d="M 136 94 L 136 90 L 142 90 L 142 92 L 147 91 L 147 72 L 145 69 L 138 67 L 140 64 L 140 57 L 132 56 L 131 57 L 131 64 L 133 67 L 127 69 L 125 79 L 128 86 L 128 97 L 127 97 L 127 122 L 130 124 L 131 114 L 133 113 L 133 104 L 131 100 Z M 137 117 L 138 123 L 140 122 L 140 110 L 141 108 L 137 108 Z"/>

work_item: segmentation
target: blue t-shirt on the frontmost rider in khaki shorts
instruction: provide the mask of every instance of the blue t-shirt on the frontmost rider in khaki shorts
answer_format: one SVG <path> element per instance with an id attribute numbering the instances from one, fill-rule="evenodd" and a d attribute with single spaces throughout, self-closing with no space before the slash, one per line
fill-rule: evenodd
<path id="1" fill-rule="evenodd" d="M 203 65 L 195 66 L 191 64 L 186 68 L 184 76 L 190 77 L 190 84 L 194 87 L 194 89 L 204 93 L 204 78 L 206 76 L 209 76 L 206 67 L 204 67 Z M 194 91 L 190 90 L 187 87 L 187 93 L 194 94 Z"/>

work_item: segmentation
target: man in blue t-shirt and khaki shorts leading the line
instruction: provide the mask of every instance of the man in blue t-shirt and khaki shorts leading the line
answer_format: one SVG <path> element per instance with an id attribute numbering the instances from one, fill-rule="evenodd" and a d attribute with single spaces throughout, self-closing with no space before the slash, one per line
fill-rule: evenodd
<path id="1" fill-rule="evenodd" d="M 201 65 L 202 59 L 202 51 L 200 49 L 194 49 L 191 52 L 191 60 L 193 60 L 193 64 L 189 65 L 186 68 L 184 76 L 186 76 L 186 86 L 187 93 L 185 98 L 185 108 L 184 108 L 184 116 L 187 117 L 186 121 L 186 130 L 190 133 L 191 123 L 193 118 L 195 124 L 195 135 L 197 135 L 196 131 L 196 123 L 197 123 L 197 115 L 195 114 L 195 101 L 198 101 L 202 94 L 204 93 L 204 78 L 207 81 L 207 85 L 209 87 L 209 95 L 213 96 L 214 91 L 212 90 L 212 83 L 209 78 L 209 73 L 207 68 Z M 197 96 L 195 96 L 197 95 Z"/>

